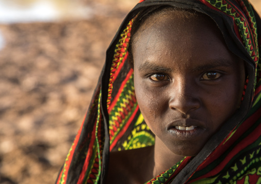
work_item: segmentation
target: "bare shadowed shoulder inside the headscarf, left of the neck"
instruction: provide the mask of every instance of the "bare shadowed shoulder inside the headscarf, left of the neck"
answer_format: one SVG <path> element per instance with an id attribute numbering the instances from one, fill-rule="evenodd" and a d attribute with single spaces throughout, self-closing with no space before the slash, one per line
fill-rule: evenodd
<path id="1" fill-rule="evenodd" d="M 111 152 L 107 183 L 142 183 L 153 147 Z M 145 171 L 144 171 L 145 170 Z"/>

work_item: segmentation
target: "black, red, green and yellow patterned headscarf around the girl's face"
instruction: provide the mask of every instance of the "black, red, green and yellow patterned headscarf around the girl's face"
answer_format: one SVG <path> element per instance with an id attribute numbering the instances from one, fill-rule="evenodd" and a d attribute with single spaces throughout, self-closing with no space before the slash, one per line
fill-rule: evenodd
<path id="1" fill-rule="evenodd" d="M 154 145 L 139 111 L 130 30 L 145 9 L 175 6 L 207 14 L 231 52 L 245 60 L 248 78 L 239 110 L 195 157 L 185 157 L 147 183 L 261 183 L 261 21 L 246 0 L 146 0 L 130 11 L 111 42 L 89 110 L 69 150 L 57 184 L 105 183 L 110 151 Z"/>

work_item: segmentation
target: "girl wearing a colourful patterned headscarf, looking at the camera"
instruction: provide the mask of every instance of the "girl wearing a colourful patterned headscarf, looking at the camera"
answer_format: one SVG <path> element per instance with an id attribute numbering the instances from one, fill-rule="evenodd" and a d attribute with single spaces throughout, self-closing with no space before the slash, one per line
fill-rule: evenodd
<path id="1" fill-rule="evenodd" d="M 140 2 L 57 183 L 261 183 L 259 26 L 247 1 Z"/>

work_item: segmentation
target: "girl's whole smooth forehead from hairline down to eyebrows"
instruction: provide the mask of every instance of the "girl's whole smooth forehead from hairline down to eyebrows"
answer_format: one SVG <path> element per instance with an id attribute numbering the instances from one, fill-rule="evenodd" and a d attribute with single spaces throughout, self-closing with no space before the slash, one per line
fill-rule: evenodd
<path id="1" fill-rule="evenodd" d="M 172 11 L 148 17 L 133 42 L 134 66 L 150 60 L 230 60 L 228 50 L 215 22 L 203 14 L 181 16 Z M 170 64 L 166 64 L 170 65 Z"/>

